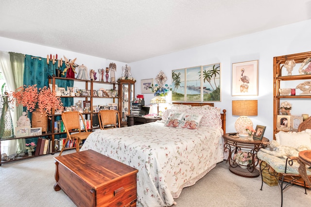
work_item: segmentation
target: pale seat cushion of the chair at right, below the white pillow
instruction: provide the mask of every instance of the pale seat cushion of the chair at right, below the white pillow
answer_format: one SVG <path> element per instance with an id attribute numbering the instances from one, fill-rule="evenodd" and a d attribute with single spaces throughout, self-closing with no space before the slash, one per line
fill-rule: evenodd
<path id="1" fill-rule="evenodd" d="M 259 152 L 257 153 L 257 158 L 269 164 L 276 171 L 276 173 L 285 172 L 286 159 L 269 155 L 268 153 L 263 152 L 262 149 L 260 149 Z M 298 167 L 299 167 L 298 162 L 294 161 L 294 164 L 292 166 L 287 165 L 286 173 L 299 175 Z M 307 175 L 308 176 L 311 175 L 311 169 L 309 168 L 307 168 Z"/>

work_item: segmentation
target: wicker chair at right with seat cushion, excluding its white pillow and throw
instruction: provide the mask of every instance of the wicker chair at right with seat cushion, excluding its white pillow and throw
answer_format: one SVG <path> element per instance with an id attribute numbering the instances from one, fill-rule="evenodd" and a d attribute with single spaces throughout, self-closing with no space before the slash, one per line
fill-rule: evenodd
<path id="1" fill-rule="evenodd" d="M 311 117 L 302 122 L 298 126 L 298 132 L 311 129 Z M 261 149 L 260 149 L 261 150 Z M 267 153 L 261 152 L 259 150 L 257 157 L 261 160 L 260 175 L 261 175 L 261 188 L 263 186 L 263 173 L 268 173 L 276 177 L 278 185 L 281 189 L 281 207 L 283 206 L 283 191 L 289 187 L 291 184 L 301 185 L 305 189 L 305 194 L 307 194 L 306 188 L 311 188 L 311 169 L 306 169 L 304 163 L 300 161 L 298 157 L 287 157 L 287 159 L 274 158 L 274 156 Z M 297 162 L 294 162 L 297 161 Z M 270 170 L 272 168 L 273 170 Z M 302 182 L 299 181 L 302 179 Z M 286 185 L 283 185 L 287 182 Z"/>

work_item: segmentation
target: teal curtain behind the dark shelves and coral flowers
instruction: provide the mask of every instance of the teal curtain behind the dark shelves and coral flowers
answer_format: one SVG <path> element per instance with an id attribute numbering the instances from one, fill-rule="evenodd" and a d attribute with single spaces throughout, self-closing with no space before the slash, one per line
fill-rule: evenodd
<path id="1" fill-rule="evenodd" d="M 57 63 L 52 64 L 52 61 L 47 64 L 46 58 L 34 57 L 32 55 L 25 55 L 25 69 L 24 69 L 24 85 L 37 85 L 37 88 L 44 86 L 49 87 L 49 76 L 56 74 Z M 65 64 L 62 64 L 60 70 L 63 71 L 66 68 Z M 62 76 L 64 77 L 64 76 Z M 73 80 L 56 80 L 58 87 L 73 87 Z M 65 106 L 72 106 L 73 98 L 61 98 L 61 101 Z M 31 119 L 31 114 L 29 114 Z M 60 117 L 56 117 L 56 120 Z M 50 123 L 52 124 L 52 123 Z M 53 126 L 53 125 L 51 125 Z M 38 138 L 27 139 L 27 142 L 37 142 Z"/>

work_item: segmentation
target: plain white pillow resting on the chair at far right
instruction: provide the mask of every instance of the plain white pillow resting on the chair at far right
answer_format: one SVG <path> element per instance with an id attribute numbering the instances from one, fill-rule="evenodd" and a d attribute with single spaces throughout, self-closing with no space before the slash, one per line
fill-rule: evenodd
<path id="1" fill-rule="evenodd" d="M 311 136 L 306 131 L 280 131 L 276 133 L 276 142 L 278 142 L 280 146 L 291 146 L 298 148 L 301 145 L 307 145 L 311 147 Z"/>

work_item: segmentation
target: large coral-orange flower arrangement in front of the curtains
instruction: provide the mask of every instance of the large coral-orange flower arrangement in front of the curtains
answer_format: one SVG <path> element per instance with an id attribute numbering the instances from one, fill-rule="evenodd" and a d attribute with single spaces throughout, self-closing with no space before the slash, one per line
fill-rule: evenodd
<path id="1" fill-rule="evenodd" d="M 38 108 L 41 114 L 47 116 L 52 114 L 52 108 L 59 111 L 64 110 L 60 97 L 46 86 L 38 89 L 36 84 L 28 87 L 24 85 L 13 92 L 13 97 L 16 99 L 16 105 L 26 107 L 27 112 Z"/>

